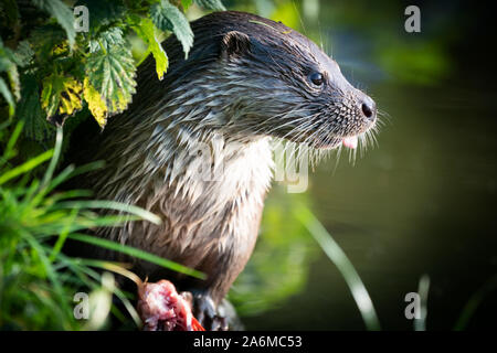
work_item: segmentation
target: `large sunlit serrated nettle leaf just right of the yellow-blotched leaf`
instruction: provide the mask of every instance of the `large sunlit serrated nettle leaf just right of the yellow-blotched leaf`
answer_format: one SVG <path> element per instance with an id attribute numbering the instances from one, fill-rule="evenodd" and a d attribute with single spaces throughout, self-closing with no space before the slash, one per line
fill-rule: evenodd
<path id="1" fill-rule="evenodd" d="M 93 53 L 85 65 L 88 83 L 104 99 L 107 114 L 126 109 L 136 92 L 135 63 L 131 51 L 125 45 L 114 45 Z"/>

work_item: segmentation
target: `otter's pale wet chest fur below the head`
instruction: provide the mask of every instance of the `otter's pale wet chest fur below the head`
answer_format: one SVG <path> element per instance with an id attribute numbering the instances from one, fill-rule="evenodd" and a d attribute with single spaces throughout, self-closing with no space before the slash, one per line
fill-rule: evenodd
<path id="1" fill-rule="evenodd" d="M 130 239 L 140 243 L 136 246 L 199 269 L 251 254 L 272 179 L 269 141 L 218 142 L 171 161 L 168 170 L 176 179 L 158 183 L 147 202 L 147 208 L 159 213 L 165 224 L 140 237 L 145 242 Z M 214 156 L 208 162 L 205 151 Z"/>

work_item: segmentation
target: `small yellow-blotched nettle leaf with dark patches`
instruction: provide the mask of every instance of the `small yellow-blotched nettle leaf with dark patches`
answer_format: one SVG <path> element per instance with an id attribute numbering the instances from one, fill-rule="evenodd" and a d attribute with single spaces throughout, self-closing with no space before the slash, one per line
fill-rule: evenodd
<path id="1" fill-rule="evenodd" d="M 71 116 L 82 108 L 82 85 L 73 77 L 52 74 L 43 79 L 42 108 L 47 118 L 55 115 Z"/>

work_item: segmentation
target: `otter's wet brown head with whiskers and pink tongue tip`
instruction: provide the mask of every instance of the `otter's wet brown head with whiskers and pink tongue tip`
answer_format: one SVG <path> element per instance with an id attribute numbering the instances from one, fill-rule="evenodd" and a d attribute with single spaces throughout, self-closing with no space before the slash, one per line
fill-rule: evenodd
<path id="1" fill-rule="evenodd" d="M 255 15 L 224 17 L 212 77 L 232 131 L 329 149 L 355 148 L 374 126 L 374 101 L 306 36 Z"/>

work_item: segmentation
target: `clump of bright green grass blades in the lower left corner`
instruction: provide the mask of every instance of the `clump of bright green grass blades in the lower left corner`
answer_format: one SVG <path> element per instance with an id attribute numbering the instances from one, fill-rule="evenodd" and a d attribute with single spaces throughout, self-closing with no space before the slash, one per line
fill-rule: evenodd
<path id="1" fill-rule="evenodd" d="M 7 127 L 3 124 L 0 130 Z M 131 304 L 134 295 L 114 285 L 112 272 L 139 279 L 124 264 L 70 257 L 62 249 L 66 239 L 91 243 L 121 252 L 197 278 L 203 274 L 139 249 L 84 234 L 95 227 L 119 226 L 145 220 L 160 224 L 160 218 L 142 208 L 110 201 L 91 201 L 85 190 L 57 191 L 68 179 L 94 170 L 101 163 L 70 165 L 55 174 L 63 133 L 57 130 L 53 149 L 25 162 L 14 162 L 22 124 L 10 133 L 0 157 L 0 330 L 97 330 L 106 328 L 114 315 L 139 325 Z M 4 130 L 0 131 L 4 137 Z M 36 168 L 49 163 L 42 178 Z M 102 216 L 97 210 L 114 210 Z M 89 320 L 74 318 L 76 292 L 89 293 L 95 313 Z M 121 300 L 125 312 L 113 304 Z"/>

